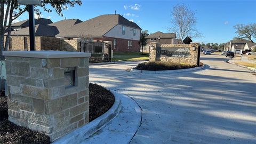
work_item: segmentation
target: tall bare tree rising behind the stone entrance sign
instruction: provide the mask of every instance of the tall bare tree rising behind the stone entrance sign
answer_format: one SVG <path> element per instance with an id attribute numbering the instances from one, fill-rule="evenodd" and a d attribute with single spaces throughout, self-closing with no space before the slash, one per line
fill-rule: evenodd
<path id="1" fill-rule="evenodd" d="M 201 37 L 201 33 L 196 29 L 195 12 L 186 5 L 177 4 L 173 7 L 171 27 L 168 30 L 175 33 L 178 39 Z"/>

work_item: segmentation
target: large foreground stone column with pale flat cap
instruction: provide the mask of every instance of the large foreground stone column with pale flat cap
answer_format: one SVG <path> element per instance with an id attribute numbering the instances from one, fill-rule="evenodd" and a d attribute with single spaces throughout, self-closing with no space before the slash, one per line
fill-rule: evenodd
<path id="1" fill-rule="evenodd" d="M 49 135 L 51 141 L 89 122 L 90 53 L 4 52 L 9 121 Z M 66 87 L 64 68 L 75 67 Z"/>

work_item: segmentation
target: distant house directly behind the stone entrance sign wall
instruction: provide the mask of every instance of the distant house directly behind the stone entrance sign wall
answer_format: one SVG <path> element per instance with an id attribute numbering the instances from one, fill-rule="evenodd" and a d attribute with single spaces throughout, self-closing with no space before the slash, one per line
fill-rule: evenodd
<path id="1" fill-rule="evenodd" d="M 160 37 L 160 42 L 158 40 Z M 147 37 L 147 43 L 159 42 L 161 44 L 175 44 L 176 35 L 174 33 L 162 33 L 161 31 L 157 31 L 154 34 L 150 34 Z"/>

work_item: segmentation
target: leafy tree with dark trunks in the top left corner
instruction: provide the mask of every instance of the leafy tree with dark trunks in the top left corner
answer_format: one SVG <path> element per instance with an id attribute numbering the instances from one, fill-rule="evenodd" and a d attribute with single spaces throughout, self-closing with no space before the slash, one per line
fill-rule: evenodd
<path id="1" fill-rule="evenodd" d="M 35 6 L 35 13 L 41 15 L 41 10 L 52 12 L 55 10 L 61 17 L 62 11 L 67 9 L 68 6 L 74 7 L 75 4 L 82 5 L 82 0 L 42 0 L 41 6 Z M 52 9 L 49 8 L 49 5 Z M 5 9 L 6 7 L 6 9 Z M 21 14 L 28 11 L 28 6 L 19 5 L 17 0 L 1 0 L 0 1 L 0 58 L 3 60 L 3 51 L 7 51 L 7 47 L 11 35 L 12 21 L 20 17 Z M 5 13 L 5 14 L 4 14 Z M 8 25 L 7 25 L 8 23 Z M 7 29 L 6 29 L 7 27 Z M 4 33 L 8 32 L 4 45 Z"/>

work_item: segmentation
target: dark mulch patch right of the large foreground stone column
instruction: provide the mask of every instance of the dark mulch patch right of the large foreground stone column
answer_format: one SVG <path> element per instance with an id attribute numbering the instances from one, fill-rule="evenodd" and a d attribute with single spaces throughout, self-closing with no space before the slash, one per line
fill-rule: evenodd
<path id="1" fill-rule="evenodd" d="M 114 95 L 103 86 L 98 84 L 89 85 L 90 95 L 90 109 L 89 109 L 89 121 L 101 116 L 106 113 L 114 104 Z"/>

